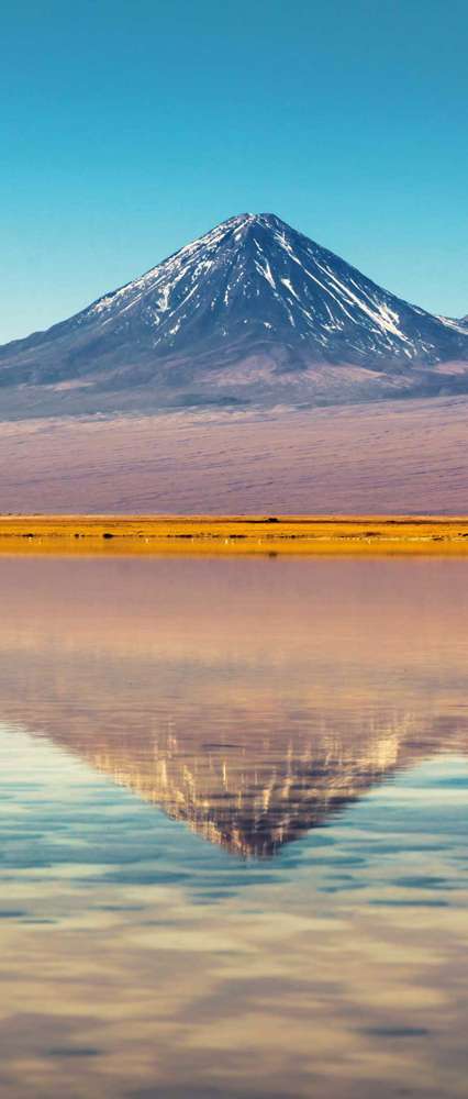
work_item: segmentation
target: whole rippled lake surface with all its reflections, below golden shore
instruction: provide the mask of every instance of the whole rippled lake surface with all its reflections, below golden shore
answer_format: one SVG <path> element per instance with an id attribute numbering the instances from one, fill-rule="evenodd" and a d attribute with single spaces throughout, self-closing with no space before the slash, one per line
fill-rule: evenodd
<path id="1" fill-rule="evenodd" d="M 465 1097 L 468 565 L 0 559 L 0 1091 Z"/>

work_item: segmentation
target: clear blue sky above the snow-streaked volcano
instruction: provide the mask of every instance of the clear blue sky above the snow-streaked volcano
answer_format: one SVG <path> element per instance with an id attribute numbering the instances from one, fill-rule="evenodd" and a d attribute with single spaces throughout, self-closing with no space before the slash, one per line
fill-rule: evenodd
<path id="1" fill-rule="evenodd" d="M 0 36 L 1 342 L 243 211 L 468 312 L 466 0 L 16 0 Z"/>

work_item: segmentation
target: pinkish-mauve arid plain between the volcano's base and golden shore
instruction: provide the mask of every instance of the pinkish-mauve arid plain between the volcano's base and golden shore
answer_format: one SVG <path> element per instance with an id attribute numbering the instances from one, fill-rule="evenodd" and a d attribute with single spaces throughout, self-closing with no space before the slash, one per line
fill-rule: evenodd
<path id="1" fill-rule="evenodd" d="M 466 514 L 468 398 L 0 424 L 0 512 Z"/>

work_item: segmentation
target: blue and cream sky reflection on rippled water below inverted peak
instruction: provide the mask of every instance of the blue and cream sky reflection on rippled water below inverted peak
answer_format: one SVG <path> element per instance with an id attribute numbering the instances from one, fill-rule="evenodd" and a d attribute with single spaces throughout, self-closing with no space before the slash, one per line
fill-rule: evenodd
<path id="1" fill-rule="evenodd" d="M 466 757 L 260 863 L 19 728 L 0 773 L 9 1097 L 463 1096 Z"/>

